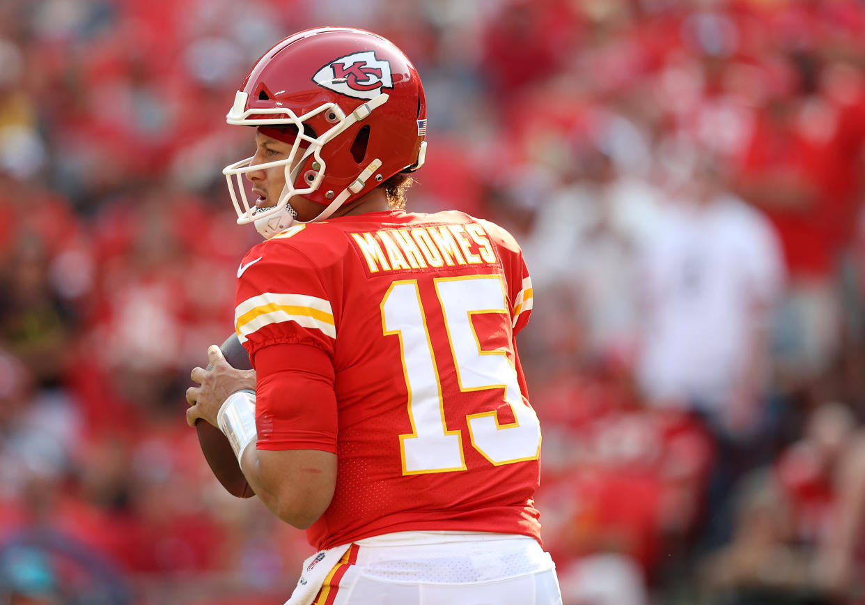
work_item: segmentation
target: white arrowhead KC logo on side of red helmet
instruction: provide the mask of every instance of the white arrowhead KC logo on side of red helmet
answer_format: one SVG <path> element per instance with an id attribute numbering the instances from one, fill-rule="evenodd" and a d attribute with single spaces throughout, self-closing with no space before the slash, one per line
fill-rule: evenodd
<path id="1" fill-rule="evenodd" d="M 382 88 L 393 88 L 388 61 L 379 61 L 375 52 L 346 55 L 319 69 L 312 80 L 321 87 L 356 99 L 375 99 Z"/>

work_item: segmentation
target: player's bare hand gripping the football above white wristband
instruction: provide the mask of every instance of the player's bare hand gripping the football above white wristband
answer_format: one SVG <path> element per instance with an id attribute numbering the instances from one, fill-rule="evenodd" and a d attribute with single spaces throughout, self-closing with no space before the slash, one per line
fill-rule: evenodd
<path id="1" fill-rule="evenodd" d="M 237 370 L 222 356 L 219 346 L 208 347 L 207 369 L 193 368 L 189 377 L 201 386 L 186 389 L 186 422 L 190 427 L 202 419 L 216 426 L 216 414 L 229 395 L 240 389 L 255 390 L 255 370 Z"/>

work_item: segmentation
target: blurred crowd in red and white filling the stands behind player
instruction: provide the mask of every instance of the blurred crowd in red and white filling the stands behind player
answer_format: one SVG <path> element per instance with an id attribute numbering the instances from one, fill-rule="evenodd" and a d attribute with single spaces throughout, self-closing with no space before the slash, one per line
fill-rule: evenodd
<path id="1" fill-rule="evenodd" d="M 410 209 L 522 243 L 565 604 L 865 603 L 862 0 L 4 0 L 0 599 L 290 595 L 183 392 L 259 241 L 225 113 L 322 24 L 420 71 Z"/>

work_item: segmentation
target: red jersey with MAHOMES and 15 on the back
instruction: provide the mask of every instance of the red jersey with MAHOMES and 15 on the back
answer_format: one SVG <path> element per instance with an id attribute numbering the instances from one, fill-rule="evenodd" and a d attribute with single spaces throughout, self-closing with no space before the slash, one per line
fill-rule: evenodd
<path id="1" fill-rule="evenodd" d="M 508 232 L 454 211 L 341 216 L 260 243 L 239 274 L 235 328 L 253 365 L 273 344 L 333 364 L 336 409 L 278 396 L 256 409 L 259 449 L 337 455 L 313 546 L 423 530 L 540 541 L 541 432 L 515 343 L 532 288 Z M 308 408 L 309 424 L 280 426 L 280 405 Z M 314 421 L 330 414 L 333 433 Z"/>

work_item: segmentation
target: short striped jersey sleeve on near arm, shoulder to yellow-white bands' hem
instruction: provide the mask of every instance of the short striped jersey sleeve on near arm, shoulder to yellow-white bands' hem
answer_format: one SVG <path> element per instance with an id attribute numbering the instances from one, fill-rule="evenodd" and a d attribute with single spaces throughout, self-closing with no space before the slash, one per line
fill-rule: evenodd
<path id="1" fill-rule="evenodd" d="M 320 270 L 297 248 L 265 242 L 240 265 L 234 331 L 255 367 L 274 344 L 305 344 L 333 357 L 336 322 Z"/>

